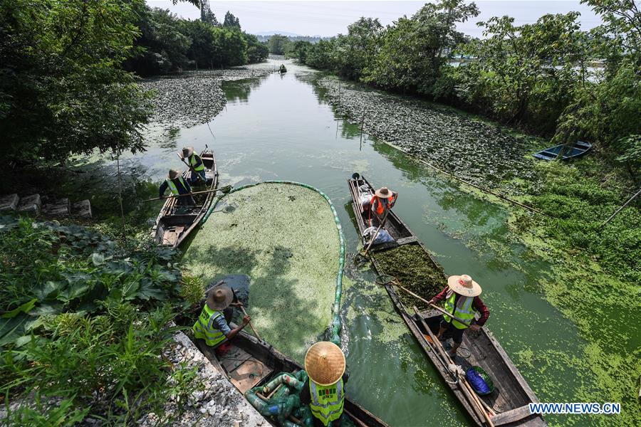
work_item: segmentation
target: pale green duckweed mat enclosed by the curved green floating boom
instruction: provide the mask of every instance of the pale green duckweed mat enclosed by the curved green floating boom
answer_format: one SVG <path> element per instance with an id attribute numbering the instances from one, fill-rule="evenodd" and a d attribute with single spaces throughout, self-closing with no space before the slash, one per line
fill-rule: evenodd
<path id="1" fill-rule="evenodd" d="M 205 283 L 249 275 L 246 309 L 256 330 L 301 362 L 332 320 L 340 243 L 322 194 L 292 184 L 260 184 L 219 200 L 184 262 Z"/>

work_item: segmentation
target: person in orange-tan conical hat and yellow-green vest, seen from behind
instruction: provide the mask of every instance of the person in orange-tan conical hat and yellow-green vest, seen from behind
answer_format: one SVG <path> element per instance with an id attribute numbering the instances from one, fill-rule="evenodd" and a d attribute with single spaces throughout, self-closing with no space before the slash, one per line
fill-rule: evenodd
<path id="1" fill-rule="evenodd" d="M 301 404 L 309 405 L 315 427 L 340 426 L 345 403 L 345 354 L 333 342 L 321 341 L 309 347 L 305 355 L 309 376 L 303 384 Z"/>

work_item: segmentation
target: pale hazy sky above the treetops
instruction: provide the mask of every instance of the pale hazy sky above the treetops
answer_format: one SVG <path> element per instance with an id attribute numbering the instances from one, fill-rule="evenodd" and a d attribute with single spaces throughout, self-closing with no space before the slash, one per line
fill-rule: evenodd
<path id="1" fill-rule="evenodd" d="M 209 0 L 212 11 L 222 21 L 226 11 L 240 19 L 248 33 L 288 32 L 303 36 L 335 36 L 346 33 L 350 23 L 360 16 L 380 19 L 383 25 L 400 16 L 411 16 L 424 1 L 217 1 Z M 172 5 L 170 0 L 147 0 L 152 7 L 170 9 L 187 19 L 199 19 L 200 11 L 192 4 Z M 481 36 L 475 25 L 491 16 L 513 16 L 517 24 L 532 23 L 544 14 L 564 14 L 579 11 L 583 29 L 598 25 L 599 20 L 588 6 L 578 0 L 480 0 L 476 1 L 481 14 L 459 26 L 471 36 Z"/>

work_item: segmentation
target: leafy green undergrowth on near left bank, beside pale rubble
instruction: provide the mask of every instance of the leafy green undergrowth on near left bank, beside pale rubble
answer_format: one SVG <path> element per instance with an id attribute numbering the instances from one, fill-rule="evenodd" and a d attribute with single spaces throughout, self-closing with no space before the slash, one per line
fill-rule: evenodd
<path id="1" fill-rule="evenodd" d="M 9 424 L 135 423 L 189 391 L 192 374 L 160 357 L 182 308 L 173 255 L 144 242 L 125 249 L 82 226 L 0 218 Z"/>

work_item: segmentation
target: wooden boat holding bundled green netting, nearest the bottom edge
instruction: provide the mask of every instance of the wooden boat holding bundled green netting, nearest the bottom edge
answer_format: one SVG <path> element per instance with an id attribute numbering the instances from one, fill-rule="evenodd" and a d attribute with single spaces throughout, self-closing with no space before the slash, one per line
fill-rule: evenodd
<path id="1" fill-rule="evenodd" d="M 207 359 L 214 364 L 214 367 L 225 374 L 231 384 L 234 384 L 242 394 L 256 386 L 266 384 L 275 374 L 296 372 L 303 369 L 300 364 L 288 359 L 271 345 L 260 342 L 244 331 L 239 332 L 234 339 L 229 341 L 231 349 L 220 359 L 211 347 L 204 344 L 202 339 L 197 339 L 196 344 Z M 349 386 L 348 383 L 348 393 Z M 345 397 L 344 412 L 352 419 L 355 426 L 387 426 L 380 418 L 355 404 L 348 396 Z"/>

